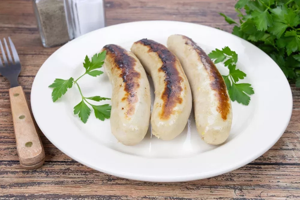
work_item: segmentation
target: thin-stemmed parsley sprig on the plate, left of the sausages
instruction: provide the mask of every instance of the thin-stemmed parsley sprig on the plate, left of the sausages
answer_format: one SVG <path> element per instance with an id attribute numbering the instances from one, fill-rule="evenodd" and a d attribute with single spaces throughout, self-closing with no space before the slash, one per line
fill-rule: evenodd
<path id="1" fill-rule="evenodd" d="M 57 101 L 62 95 L 64 95 L 67 92 L 68 88 L 72 88 L 73 85 L 77 86 L 81 95 L 81 102 L 74 107 L 74 114 L 78 115 L 78 117 L 83 123 L 87 122 L 88 117 L 91 114 L 91 109 L 88 107 L 88 105 L 90 105 L 94 109 L 96 118 L 102 121 L 110 118 L 111 106 L 109 104 L 98 106 L 88 102 L 88 100 L 99 102 L 102 100 L 109 100 L 110 98 L 100 97 L 100 96 L 85 97 L 83 96 L 81 88 L 79 87 L 78 84 L 78 80 L 86 74 L 90 76 L 99 76 L 103 74 L 103 71 L 96 70 L 96 69 L 102 67 L 104 63 L 105 55 L 106 55 L 106 51 L 103 51 L 99 54 L 95 54 L 91 58 L 91 60 L 88 58 L 88 56 L 85 56 L 84 63 L 83 63 L 83 67 L 85 68 L 85 73 L 79 76 L 78 79 L 74 80 L 72 77 L 67 80 L 55 79 L 54 82 L 51 85 L 49 85 L 50 88 L 53 88 L 52 91 L 53 102 Z"/>

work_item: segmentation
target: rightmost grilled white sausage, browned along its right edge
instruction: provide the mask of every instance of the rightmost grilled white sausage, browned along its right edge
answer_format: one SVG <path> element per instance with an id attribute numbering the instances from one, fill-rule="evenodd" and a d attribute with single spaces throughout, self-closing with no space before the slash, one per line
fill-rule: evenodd
<path id="1" fill-rule="evenodd" d="M 232 108 L 226 84 L 206 53 L 190 38 L 171 35 L 168 48 L 180 60 L 190 83 L 196 126 L 201 138 L 218 145 L 229 136 Z"/>

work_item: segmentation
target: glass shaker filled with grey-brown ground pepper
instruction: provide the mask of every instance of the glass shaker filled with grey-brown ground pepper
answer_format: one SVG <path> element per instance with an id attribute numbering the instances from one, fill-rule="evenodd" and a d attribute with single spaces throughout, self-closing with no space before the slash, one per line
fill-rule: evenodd
<path id="1" fill-rule="evenodd" d="M 73 39 L 64 0 L 34 0 L 34 8 L 44 47 L 57 46 Z"/>

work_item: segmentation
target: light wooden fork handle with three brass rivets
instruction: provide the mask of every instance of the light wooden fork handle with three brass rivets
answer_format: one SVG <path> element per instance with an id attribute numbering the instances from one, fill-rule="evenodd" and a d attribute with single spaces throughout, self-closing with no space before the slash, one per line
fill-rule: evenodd
<path id="1" fill-rule="evenodd" d="M 9 98 L 20 164 L 36 169 L 43 165 L 45 152 L 22 86 L 10 88 Z"/>

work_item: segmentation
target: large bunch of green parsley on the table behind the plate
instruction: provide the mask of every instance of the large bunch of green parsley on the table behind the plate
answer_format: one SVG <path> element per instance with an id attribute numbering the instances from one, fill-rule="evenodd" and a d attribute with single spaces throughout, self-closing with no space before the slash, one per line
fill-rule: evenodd
<path id="1" fill-rule="evenodd" d="M 290 83 L 300 87 L 300 0 L 238 0 L 239 22 L 220 13 L 232 34 L 266 52 Z"/>

